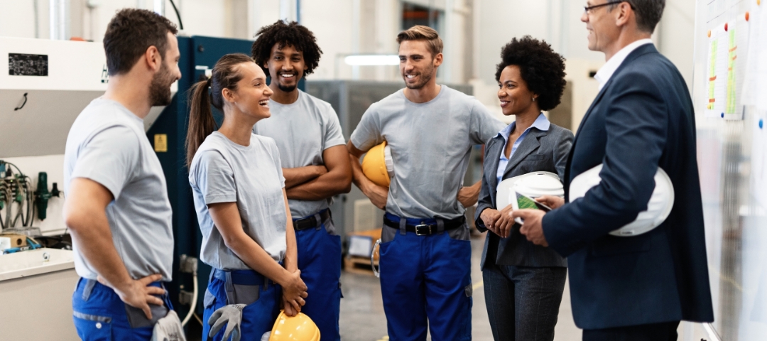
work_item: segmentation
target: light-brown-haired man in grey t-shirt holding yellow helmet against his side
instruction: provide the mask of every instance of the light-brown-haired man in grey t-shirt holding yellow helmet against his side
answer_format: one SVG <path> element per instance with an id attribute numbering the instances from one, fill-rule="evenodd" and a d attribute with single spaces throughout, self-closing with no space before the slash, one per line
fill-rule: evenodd
<path id="1" fill-rule="evenodd" d="M 397 35 L 407 88 L 370 105 L 347 148 L 354 184 L 386 210 L 380 280 L 389 337 L 471 339 L 472 284 L 465 207 L 480 183 L 463 187 L 469 154 L 505 126 L 475 98 L 436 84 L 442 40 L 426 26 Z M 390 187 L 365 177 L 359 157 L 387 142 Z"/>

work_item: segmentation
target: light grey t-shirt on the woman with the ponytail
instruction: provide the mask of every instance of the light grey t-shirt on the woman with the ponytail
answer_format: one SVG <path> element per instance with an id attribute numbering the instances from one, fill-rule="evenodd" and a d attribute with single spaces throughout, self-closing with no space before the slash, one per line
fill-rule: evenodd
<path id="1" fill-rule="evenodd" d="M 245 230 L 272 259 L 285 258 L 285 201 L 280 154 L 275 141 L 252 134 L 248 147 L 214 131 L 206 137 L 189 167 L 197 221 L 202 231 L 200 259 L 222 270 L 250 267 L 226 247 L 213 224 L 209 204 L 237 203 Z"/>

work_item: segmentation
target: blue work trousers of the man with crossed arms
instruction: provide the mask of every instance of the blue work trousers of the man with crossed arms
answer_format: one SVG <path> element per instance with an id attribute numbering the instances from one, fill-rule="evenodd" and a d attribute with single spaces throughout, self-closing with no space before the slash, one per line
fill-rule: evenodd
<path id="1" fill-rule="evenodd" d="M 322 220 L 325 211 L 328 212 L 327 219 Z M 301 270 L 301 280 L 304 280 L 308 288 L 308 297 L 306 304 L 301 307 L 301 313 L 314 321 L 323 341 L 337 341 L 341 339 L 338 332 L 341 309 L 341 236 L 328 233 L 328 224 L 332 224 L 328 209 L 293 221 L 311 217 L 314 217 L 314 223 L 311 224 L 314 227 L 298 230 L 294 223 L 298 270 Z"/>

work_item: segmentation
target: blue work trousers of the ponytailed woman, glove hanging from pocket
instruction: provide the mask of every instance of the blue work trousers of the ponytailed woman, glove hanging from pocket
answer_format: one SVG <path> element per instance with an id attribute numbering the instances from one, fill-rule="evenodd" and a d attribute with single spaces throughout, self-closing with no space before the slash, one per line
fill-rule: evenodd
<path id="1" fill-rule="evenodd" d="M 208 290 L 205 292 L 205 310 L 202 313 L 202 339 L 210 340 L 208 319 L 229 304 L 245 304 L 242 309 L 240 332 L 243 340 L 260 340 L 272 330 L 280 313 L 281 287 L 253 270 L 220 270 L 210 273 Z M 212 338 L 221 341 L 226 328 Z"/>

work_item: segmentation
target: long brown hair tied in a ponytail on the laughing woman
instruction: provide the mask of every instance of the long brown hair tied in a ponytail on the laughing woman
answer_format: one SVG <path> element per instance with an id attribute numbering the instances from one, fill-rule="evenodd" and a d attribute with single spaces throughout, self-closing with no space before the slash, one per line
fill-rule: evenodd
<path id="1" fill-rule="evenodd" d="M 242 74 L 236 66 L 248 62 L 254 61 L 242 53 L 224 55 L 216 62 L 212 75 L 207 81 L 198 81 L 189 89 L 192 97 L 189 105 L 189 127 L 186 131 L 186 167 L 192 165 L 194 155 L 202 141 L 205 141 L 205 138 L 218 128 L 216 121 L 213 120 L 211 105 L 223 111 L 224 98 L 221 91 L 237 90 L 237 82 L 242 79 Z"/>

